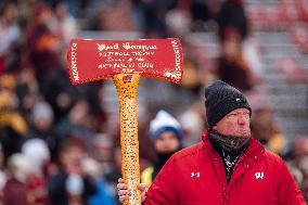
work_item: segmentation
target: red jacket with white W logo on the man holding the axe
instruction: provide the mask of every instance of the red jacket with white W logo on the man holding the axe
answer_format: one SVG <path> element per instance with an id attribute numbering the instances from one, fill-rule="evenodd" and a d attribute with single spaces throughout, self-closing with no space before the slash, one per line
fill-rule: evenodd
<path id="1" fill-rule="evenodd" d="M 298 205 L 305 200 L 282 158 L 252 138 L 230 183 L 207 132 L 176 153 L 156 176 L 145 205 Z"/>

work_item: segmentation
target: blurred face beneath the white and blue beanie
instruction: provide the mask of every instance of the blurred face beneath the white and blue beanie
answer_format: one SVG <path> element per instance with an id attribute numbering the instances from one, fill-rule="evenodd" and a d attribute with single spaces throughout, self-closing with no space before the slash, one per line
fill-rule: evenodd
<path id="1" fill-rule="evenodd" d="M 180 148 L 180 142 L 174 131 L 164 131 L 155 140 L 154 146 L 158 153 L 170 153 Z"/>

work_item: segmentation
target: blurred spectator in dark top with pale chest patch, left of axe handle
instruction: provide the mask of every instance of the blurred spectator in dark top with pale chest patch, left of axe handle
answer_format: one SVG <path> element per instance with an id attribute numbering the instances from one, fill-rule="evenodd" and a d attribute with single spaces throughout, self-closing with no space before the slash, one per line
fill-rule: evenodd
<path id="1" fill-rule="evenodd" d="M 97 192 L 94 179 L 81 167 L 86 154 L 81 144 L 67 139 L 60 148 L 60 170 L 51 176 L 48 184 L 52 205 L 88 205 L 89 197 Z"/>

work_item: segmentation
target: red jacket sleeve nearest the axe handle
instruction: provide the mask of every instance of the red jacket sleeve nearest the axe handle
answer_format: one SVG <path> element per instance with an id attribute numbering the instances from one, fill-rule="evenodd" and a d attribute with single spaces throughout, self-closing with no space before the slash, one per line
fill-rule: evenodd
<path id="1" fill-rule="evenodd" d="M 178 196 L 176 191 L 176 163 L 171 157 L 156 176 L 150 187 L 144 205 L 177 205 Z"/>

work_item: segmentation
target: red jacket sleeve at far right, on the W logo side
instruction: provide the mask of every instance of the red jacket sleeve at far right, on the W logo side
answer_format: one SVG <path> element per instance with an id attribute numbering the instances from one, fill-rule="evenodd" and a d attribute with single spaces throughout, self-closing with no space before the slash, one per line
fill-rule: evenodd
<path id="1" fill-rule="evenodd" d="M 278 204 L 279 205 L 306 205 L 304 196 L 291 175 L 285 163 L 281 161 L 281 170 L 278 187 Z"/>

